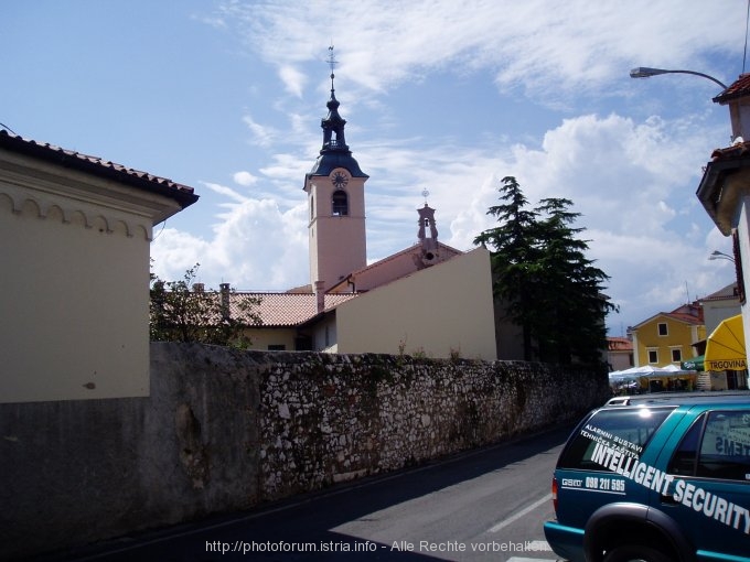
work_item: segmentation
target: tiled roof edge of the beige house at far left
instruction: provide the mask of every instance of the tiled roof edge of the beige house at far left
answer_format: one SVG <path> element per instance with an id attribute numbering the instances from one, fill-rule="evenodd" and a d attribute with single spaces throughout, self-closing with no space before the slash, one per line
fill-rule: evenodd
<path id="1" fill-rule="evenodd" d="M 11 134 L 6 130 L 0 130 L 0 148 L 125 183 L 139 190 L 158 193 L 175 199 L 183 208 L 192 205 L 199 198 L 193 193 L 194 190 L 192 187 L 173 182 L 172 180 L 133 170 L 132 167 L 126 167 L 98 156 L 65 150 L 54 144 L 28 140 L 17 134 Z"/>

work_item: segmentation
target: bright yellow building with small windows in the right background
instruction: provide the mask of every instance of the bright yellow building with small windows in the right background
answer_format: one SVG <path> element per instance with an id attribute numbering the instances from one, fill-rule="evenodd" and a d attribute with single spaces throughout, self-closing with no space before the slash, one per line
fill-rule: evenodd
<path id="1" fill-rule="evenodd" d="M 694 344 L 705 342 L 703 309 L 684 304 L 672 312 L 660 312 L 630 328 L 636 367 L 679 367 L 697 355 Z"/>

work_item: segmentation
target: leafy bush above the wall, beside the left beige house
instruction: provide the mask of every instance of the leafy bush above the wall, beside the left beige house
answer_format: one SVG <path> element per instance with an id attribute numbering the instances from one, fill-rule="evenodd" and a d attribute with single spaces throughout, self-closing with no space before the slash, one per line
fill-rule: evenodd
<path id="1" fill-rule="evenodd" d="M 150 336 L 154 342 L 197 342 L 247 347 L 245 328 L 258 324 L 258 299 L 233 291 L 195 290 L 200 264 L 179 281 L 163 281 L 151 273 Z"/>

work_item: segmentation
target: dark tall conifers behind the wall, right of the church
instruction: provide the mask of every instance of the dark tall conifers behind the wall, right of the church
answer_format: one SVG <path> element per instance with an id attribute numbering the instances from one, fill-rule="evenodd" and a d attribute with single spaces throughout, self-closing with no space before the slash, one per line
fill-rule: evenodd
<path id="1" fill-rule="evenodd" d="M 617 310 L 602 291 L 609 277 L 586 257 L 580 216 L 566 198 L 529 209 L 515 177 L 502 180 L 501 204 L 488 215 L 499 226 L 474 244 L 492 251 L 493 289 L 523 334 L 524 358 L 589 365 L 607 348 L 606 315 Z"/>

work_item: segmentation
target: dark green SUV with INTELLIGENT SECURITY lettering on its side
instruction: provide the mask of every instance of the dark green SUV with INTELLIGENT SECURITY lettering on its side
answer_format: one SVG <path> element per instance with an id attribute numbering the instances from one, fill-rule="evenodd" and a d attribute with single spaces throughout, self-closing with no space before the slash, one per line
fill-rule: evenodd
<path id="1" fill-rule="evenodd" d="M 570 435 L 544 527 L 578 562 L 750 562 L 750 393 L 618 397 Z"/>

